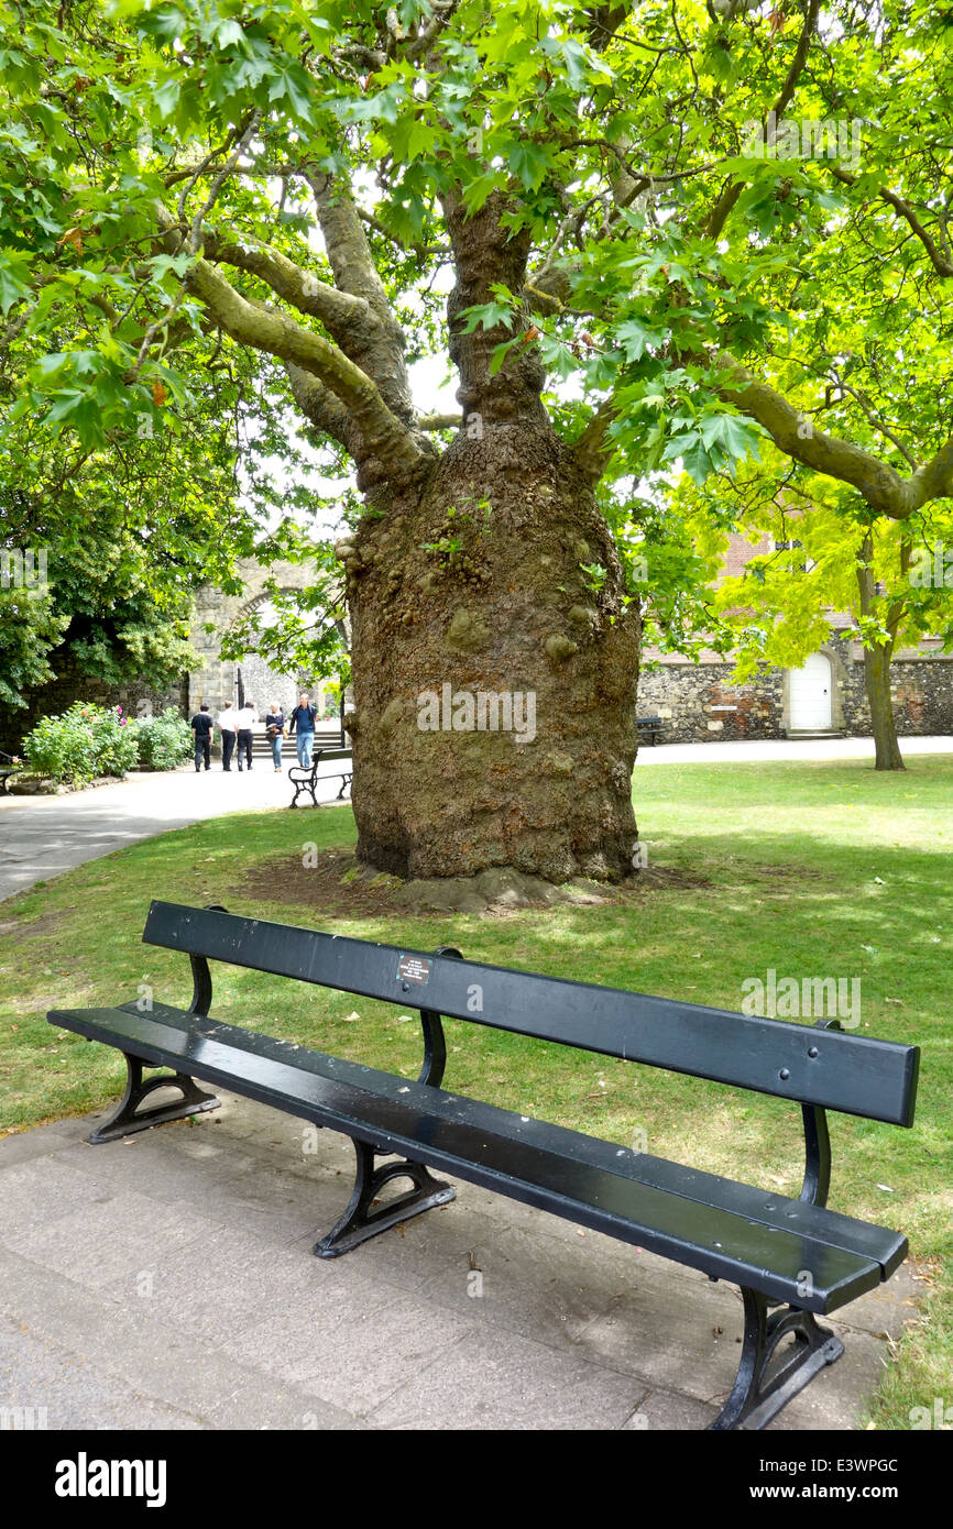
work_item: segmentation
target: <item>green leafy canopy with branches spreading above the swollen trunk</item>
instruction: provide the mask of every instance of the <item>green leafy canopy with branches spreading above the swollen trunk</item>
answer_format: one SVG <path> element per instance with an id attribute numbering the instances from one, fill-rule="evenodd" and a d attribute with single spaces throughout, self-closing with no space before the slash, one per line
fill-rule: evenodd
<path id="1" fill-rule="evenodd" d="M 168 430 L 184 350 L 225 333 L 367 480 L 372 456 L 410 469 L 433 446 L 398 358 L 441 349 L 447 200 L 502 197 L 529 275 L 463 327 L 494 367 L 534 347 L 575 379 L 551 404 L 594 476 L 615 450 L 701 477 L 754 422 L 892 518 L 950 491 L 953 26 L 930 5 L 0 18 L 14 419 Z"/>

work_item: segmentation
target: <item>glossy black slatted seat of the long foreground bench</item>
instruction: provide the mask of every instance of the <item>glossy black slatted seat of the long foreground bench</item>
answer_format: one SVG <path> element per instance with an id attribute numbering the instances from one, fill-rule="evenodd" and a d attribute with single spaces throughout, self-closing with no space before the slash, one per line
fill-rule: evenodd
<path id="1" fill-rule="evenodd" d="M 873 1289 L 906 1254 L 896 1232 L 182 1009 L 49 1018 L 808 1310 Z"/>

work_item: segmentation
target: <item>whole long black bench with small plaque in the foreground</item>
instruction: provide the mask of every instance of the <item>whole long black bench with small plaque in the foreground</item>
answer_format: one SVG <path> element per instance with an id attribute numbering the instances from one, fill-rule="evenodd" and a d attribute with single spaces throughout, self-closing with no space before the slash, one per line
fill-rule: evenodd
<path id="1" fill-rule="evenodd" d="M 762 1428 L 843 1344 L 817 1323 L 875 1289 L 903 1263 L 899 1232 L 825 1208 L 831 1177 L 826 1110 L 910 1125 L 915 1046 L 644 997 L 433 954 L 320 934 L 225 913 L 153 902 L 142 939 L 188 954 L 188 1009 L 142 1000 L 116 1009 L 54 1009 L 49 1021 L 125 1053 L 122 1102 L 92 1136 L 130 1131 L 214 1109 L 194 1079 L 271 1104 L 350 1136 L 350 1203 L 315 1252 L 332 1258 L 454 1190 L 436 1168 L 514 1200 L 607 1232 L 713 1280 L 740 1286 L 745 1336 L 734 1388 L 714 1428 Z M 220 960 L 343 992 L 418 1008 L 424 1063 L 410 1081 L 210 1017 L 208 962 Z M 650 1067 L 776 1095 L 802 1105 L 806 1170 L 789 1199 L 598 1141 L 441 1087 L 441 1017 L 621 1057 Z M 145 1067 L 171 1069 L 144 1081 Z M 159 1087 L 181 1101 L 141 1109 Z M 704 1109 L 704 1104 L 701 1105 Z M 385 1159 L 378 1164 L 378 1157 Z M 392 1179 L 407 1193 L 375 1206 Z M 792 1346 L 785 1347 L 785 1339 Z M 783 1350 L 783 1352 L 780 1352 Z"/>

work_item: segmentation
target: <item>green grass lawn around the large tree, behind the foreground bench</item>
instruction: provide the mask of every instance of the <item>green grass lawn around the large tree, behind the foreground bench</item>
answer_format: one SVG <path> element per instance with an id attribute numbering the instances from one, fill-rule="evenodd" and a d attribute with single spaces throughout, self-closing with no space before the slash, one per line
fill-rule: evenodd
<path id="1" fill-rule="evenodd" d="M 141 943 L 150 898 L 327 927 L 416 948 L 457 945 L 522 966 L 739 1009 L 746 977 L 860 977 L 860 1034 L 922 1046 L 912 1131 L 832 1116 L 837 1209 L 896 1226 L 927 1274 L 919 1320 L 872 1410 L 909 1427 L 910 1407 L 950 1402 L 953 1373 L 953 755 L 906 775 L 860 761 L 639 764 L 635 806 L 650 873 L 604 907 L 494 916 L 321 916 L 295 907 L 306 868 L 275 856 L 353 842 L 349 807 L 234 813 L 162 835 L 0 905 L 0 1128 L 98 1109 L 124 1066 L 46 1024 L 54 1006 L 135 998 L 187 1003 L 188 962 Z M 2 815 L 0 815 L 2 832 Z M 259 872 L 259 868 L 262 870 Z M 321 1050 L 416 1075 L 402 1012 L 219 968 L 214 1011 Z M 783 1101 L 653 1072 L 479 1026 L 447 1026 L 447 1087 L 538 1113 L 714 1173 L 797 1194 L 800 1112 Z M 883 1188 L 883 1187 L 887 1188 Z"/>

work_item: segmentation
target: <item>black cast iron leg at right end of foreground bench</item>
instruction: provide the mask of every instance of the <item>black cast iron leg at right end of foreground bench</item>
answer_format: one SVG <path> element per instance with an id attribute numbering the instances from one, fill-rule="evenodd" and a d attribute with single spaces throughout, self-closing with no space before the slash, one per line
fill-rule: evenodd
<path id="1" fill-rule="evenodd" d="M 742 1295 L 745 1344 L 731 1396 L 711 1423 L 714 1430 L 763 1428 L 818 1370 L 844 1352 L 840 1338 L 821 1327 L 812 1312 L 780 1306 L 768 1313 L 768 1300 L 759 1290 L 742 1287 Z M 777 1359 L 780 1344 L 791 1333 L 794 1347 Z"/>

